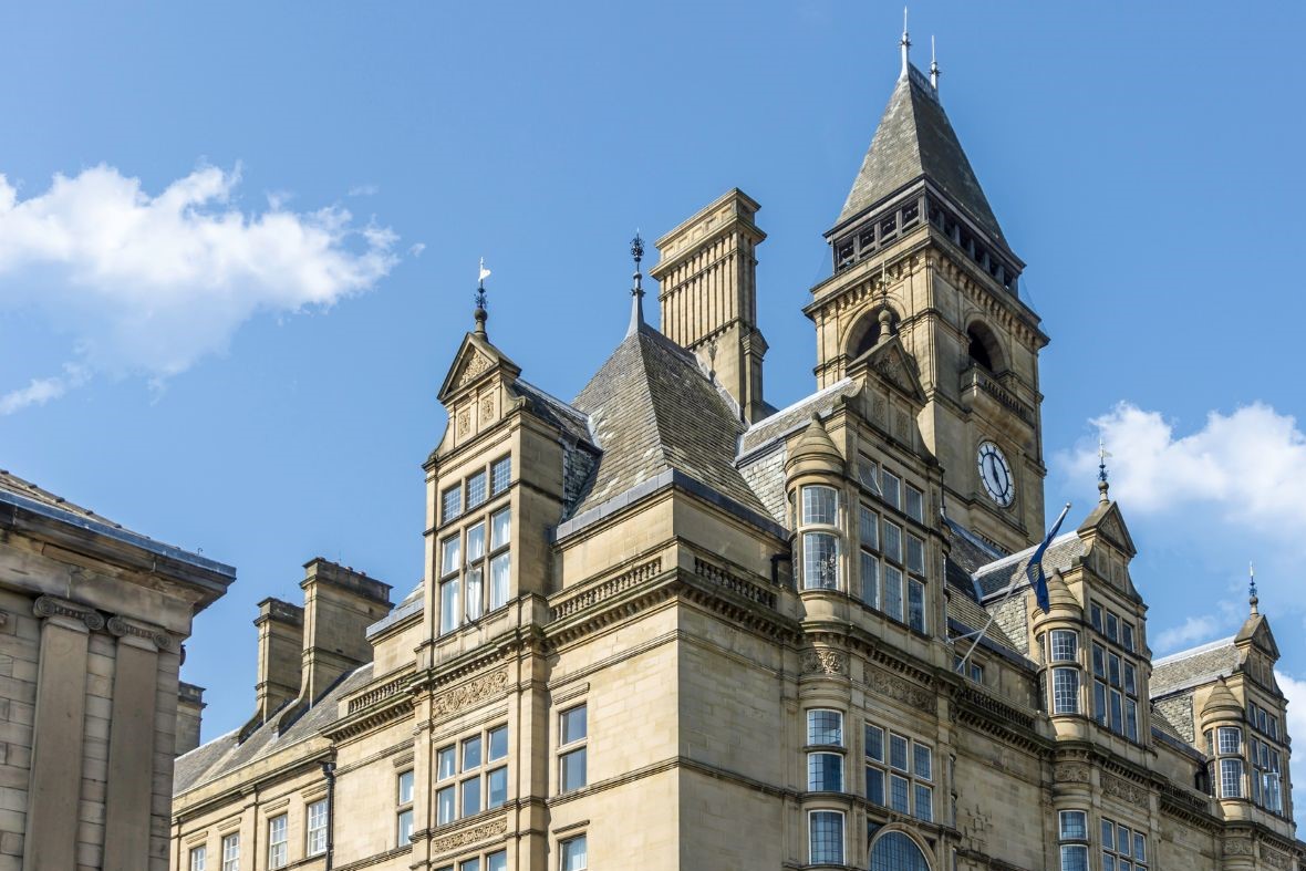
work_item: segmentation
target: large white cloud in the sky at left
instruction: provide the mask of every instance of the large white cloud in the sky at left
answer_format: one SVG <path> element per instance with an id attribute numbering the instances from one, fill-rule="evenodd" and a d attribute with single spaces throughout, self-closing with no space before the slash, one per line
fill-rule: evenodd
<path id="1" fill-rule="evenodd" d="M 110 166 L 56 175 L 20 200 L 0 175 L 0 313 L 27 308 L 71 337 L 72 371 L 0 397 L 0 413 L 56 398 L 91 372 L 157 380 L 226 347 L 260 311 L 325 308 L 397 262 L 397 236 L 340 206 L 232 205 L 239 168 L 201 167 L 158 196 Z"/>

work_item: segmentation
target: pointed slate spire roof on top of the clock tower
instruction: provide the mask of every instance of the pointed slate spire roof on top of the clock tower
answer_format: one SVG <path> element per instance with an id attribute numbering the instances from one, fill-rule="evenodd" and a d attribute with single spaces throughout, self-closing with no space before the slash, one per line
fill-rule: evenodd
<path id="1" fill-rule="evenodd" d="M 981 229 L 1006 244 L 938 95 L 925 74 L 908 65 L 875 128 L 837 223 L 858 217 L 921 176 L 927 176 Z"/>

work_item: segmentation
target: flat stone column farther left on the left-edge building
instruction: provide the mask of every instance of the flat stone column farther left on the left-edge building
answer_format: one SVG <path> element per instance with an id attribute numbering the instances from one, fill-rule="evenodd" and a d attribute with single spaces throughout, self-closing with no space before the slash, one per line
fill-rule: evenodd
<path id="1" fill-rule="evenodd" d="M 77 867 L 86 653 L 91 629 L 103 628 L 104 618 L 50 595 L 38 598 L 33 612 L 42 626 L 22 867 L 68 871 Z"/>

